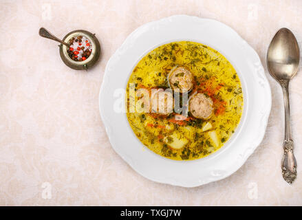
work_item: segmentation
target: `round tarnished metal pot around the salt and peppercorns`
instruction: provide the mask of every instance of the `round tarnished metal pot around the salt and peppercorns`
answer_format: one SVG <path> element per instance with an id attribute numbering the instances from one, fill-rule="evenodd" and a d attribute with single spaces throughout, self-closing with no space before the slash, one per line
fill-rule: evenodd
<path id="1" fill-rule="evenodd" d="M 62 61 L 67 65 L 68 67 L 72 69 L 89 69 L 92 67 L 96 61 L 98 61 L 98 57 L 100 56 L 100 43 L 98 42 L 98 39 L 96 38 L 96 34 L 91 34 L 90 32 L 87 32 L 86 30 L 74 30 L 73 32 L 68 33 L 64 38 L 63 41 L 65 43 L 68 43 L 70 39 L 76 36 L 85 36 L 90 42 L 92 46 L 91 54 L 85 61 L 74 61 L 72 58 L 69 57 L 67 53 L 67 46 L 59 45 L 60 47 L 60 56 L 62 58 Z"/>

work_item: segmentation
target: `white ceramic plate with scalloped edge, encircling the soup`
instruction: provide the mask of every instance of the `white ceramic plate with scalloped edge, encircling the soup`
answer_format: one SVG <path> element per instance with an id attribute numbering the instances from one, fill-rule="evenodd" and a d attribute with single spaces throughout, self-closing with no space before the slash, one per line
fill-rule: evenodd
<path id="1" fill-rule="evenodd" d="M 116 112 L 138 61 L 159 45 L 172 41 L 203 43 L 223 54 L 241 80 L 244 111 L 239 126 L 219 151 L 192 161 L 176 161 L 153 153 L 131 130 L 125 113 Z M 122 100 L 124 101 L 124 100 Z M 111 56 L 100 89 L 100 115 L 112 147 L 142 176 L 165 184 L 193 187 L 235 173 L 260 144 L 271 107 L 270 85 L 255 50 L 230 27 L 211 19 L 177 15 L 142 25 Z"/>

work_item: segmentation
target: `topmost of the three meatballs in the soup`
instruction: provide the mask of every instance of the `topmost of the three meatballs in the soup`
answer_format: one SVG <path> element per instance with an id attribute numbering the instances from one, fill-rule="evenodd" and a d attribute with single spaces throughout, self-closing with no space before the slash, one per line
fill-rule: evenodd
<path id="1" fill-rule="evenodd" d="M 168 76 L 171 89 L 185 93 L 193 88 L 193 74 L 184 67 L 177 67 Z"/>

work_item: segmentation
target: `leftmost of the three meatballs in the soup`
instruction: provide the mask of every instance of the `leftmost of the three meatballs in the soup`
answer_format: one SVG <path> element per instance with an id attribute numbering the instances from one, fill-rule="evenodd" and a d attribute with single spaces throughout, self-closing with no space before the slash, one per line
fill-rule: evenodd
<path id="1" fill-rule="evenodd" d="M 169 115 L 173 112 L 173 95 L 169 91 L 159 89 L 151 95 L 151 112 Z"/>

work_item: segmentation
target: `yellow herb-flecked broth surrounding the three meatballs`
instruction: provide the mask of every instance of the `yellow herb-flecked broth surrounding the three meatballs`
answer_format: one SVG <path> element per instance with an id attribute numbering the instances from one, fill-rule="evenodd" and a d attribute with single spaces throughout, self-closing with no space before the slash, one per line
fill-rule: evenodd
<path id="1" fill-rule="evenodd" d="M 170 159 L 199 159 L 221 148 L 234 133 L 243 109 L 239 77 L 228 60 L 213 48 L 191 41 L 168 43 L 144 56 L 133 69 L 129 83 L 139 88 L 168 88 L 167 75 L 173 67 L 185 67 L 194 75 L 194 92 L 211 97 L 214 113 L 208 120 L 188 115 L 175 121 L 175 113 L 130 113 L 127 118 L 136 137 L 151 151 Z M 134 98 L 138 101 L 138 97 Z M 133 106 L 132 106 L 133 107 Z M 175 147 L 180 147 L 176 149 Z"/>

